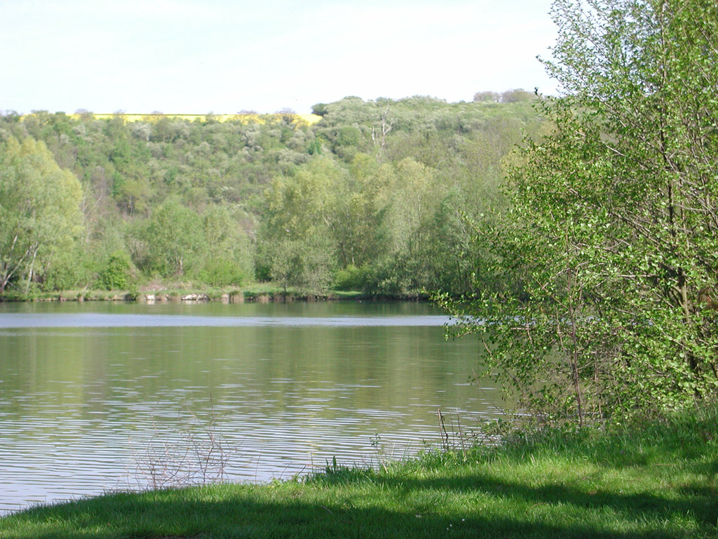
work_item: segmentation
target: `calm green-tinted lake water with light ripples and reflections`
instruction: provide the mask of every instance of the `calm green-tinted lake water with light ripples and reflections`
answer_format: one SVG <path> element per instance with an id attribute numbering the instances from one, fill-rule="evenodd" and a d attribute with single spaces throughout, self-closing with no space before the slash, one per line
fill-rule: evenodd
<path id="1" fill-rule="evenodd" d="M 189 474 L 208 430 L 233 481 L 437 443 L 438 408 L 470 427 L 500 406 L 446 321 L 421 303 L 0 303 L 0 514 Z"/>

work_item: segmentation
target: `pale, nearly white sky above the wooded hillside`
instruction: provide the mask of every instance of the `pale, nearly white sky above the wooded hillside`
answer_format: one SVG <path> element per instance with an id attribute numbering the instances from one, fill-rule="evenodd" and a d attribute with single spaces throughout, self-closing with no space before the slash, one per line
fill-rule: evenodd
<path id="1" fill-rule="evenodd" d="M 0 0 L 0 111 L 235 114 L 556 93 L 551 0 Z"/>

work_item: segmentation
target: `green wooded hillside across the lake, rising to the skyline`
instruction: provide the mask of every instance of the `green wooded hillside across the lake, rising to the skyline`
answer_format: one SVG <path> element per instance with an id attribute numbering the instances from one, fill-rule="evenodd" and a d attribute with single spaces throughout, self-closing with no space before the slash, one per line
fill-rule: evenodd
<path id="1" fill-rule="evenodd" d="M 467 220 L 546 121 L 523 90 L 235 117 L 0 116 L 0 295 L 239 287 L 472 290 Z"/>

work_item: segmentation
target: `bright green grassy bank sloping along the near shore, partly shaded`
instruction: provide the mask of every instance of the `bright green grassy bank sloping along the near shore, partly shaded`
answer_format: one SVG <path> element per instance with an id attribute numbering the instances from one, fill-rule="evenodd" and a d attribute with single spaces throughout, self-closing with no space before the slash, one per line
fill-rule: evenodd
<path id="1" fill-rule="evenodd" d="M 371 471 L 113 494 L 0 519 L 0 538 L 716 538 L 718 407 L 516 436 Z"/>

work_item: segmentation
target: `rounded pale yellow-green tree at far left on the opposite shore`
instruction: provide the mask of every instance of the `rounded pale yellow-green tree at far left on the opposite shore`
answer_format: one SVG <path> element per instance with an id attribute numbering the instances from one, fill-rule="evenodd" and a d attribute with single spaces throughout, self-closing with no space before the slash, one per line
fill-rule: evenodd
<path id="1" fill-rule="evenodd" d="M 27 290 L 53 254 L 70 248 L 82 229 L 81 198 L 78 179 L 42 142 L 0 145 L 0 292 L 21 277 Z"/>

